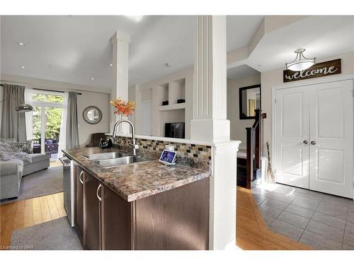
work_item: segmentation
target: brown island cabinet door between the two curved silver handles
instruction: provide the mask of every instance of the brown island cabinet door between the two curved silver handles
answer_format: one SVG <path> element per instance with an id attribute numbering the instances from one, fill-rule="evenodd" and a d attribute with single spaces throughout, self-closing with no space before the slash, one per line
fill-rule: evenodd
<path id="1" fill-rule="evenodd" d="M 85 172 L 84 177 L 84 238 L 88 249 L 101 249 L 101 182 Z"/>

